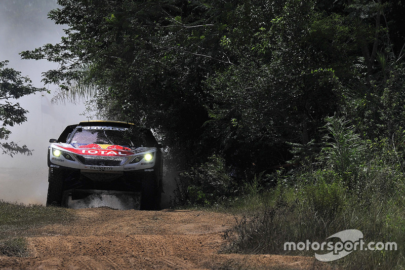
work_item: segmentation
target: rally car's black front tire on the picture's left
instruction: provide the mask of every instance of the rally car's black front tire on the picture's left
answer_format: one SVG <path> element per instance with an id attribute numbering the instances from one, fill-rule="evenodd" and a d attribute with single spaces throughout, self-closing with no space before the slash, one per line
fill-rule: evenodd
<path id="1" fill-rule="evenodd" d="M 47 206 L 63 206 L 63 171 L 49 168 Z"/>

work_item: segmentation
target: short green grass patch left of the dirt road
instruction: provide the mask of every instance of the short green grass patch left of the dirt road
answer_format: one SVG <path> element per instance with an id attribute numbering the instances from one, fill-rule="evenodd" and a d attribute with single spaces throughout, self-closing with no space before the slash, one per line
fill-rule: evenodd
<path id="1" fill-rule="evenodd" d="M 32 235 L 36 228 L 72 219 L 73 214 L 65 208 L 0 200 L 0 255 L 27 256 L 26 237 Z"/>

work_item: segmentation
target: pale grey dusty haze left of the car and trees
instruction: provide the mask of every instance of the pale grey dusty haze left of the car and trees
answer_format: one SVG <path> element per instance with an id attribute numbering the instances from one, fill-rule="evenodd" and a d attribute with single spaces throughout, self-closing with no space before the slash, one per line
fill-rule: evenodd
<path id="1" fill-rule="evenodd" d="M 51 91 L 51 94 L 38 93 L 15 101 L 29 111 L 28 121 L 10 127 L 12 134 L 8 141 L 25 144 L 34 151 L 32 156 L 0 155 L 0 200 L 45 205 L 49 139 L 57 138 L 67 125 L 86 120 L 79 115 L 85 110 L 83 104 L 51 104 L 56 86 L 44 86 L 41 73 L 56 68 L 55 63 L 21 60 L 19 56 L 22 51 L 60 41 L 63 26 L 47 18 L 48 12 L 56 7 L 54 0 L 0 2 L 0 61 L 9 60 L 8 67 L 29 76 L 33 86 Z"/>

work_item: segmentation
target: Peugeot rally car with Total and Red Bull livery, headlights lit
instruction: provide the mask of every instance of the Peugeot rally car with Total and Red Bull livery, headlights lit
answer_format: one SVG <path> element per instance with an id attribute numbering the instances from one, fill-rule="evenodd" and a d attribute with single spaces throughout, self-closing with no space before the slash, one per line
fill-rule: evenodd
<path id="1" fill-rule="evenodd" d="M 65 128 L 48 147 L 47 205 L 66 206 L 66 192 L 140 192 L 140 208 L 159 207 L 161 146 L 152 132 L 133 124 L 86 121 Z"/>

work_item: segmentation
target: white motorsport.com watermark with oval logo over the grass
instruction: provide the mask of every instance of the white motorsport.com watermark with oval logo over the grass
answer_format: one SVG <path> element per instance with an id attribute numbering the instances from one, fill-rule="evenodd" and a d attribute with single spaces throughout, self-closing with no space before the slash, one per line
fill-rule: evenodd
<path id="1" fill-rule="evenodd" d="M 326 254 L 317 254 L 315 252 L 315 258 L 320 260 L 320 261 L 334 261 L 340 258 L 343 258 L 344 256 L 350 254 L 353 251 L 356 250 L 386 250 L 386 251 L 391 251 L 391 250 L 396 250 L 397 245 L 395 242 L 387 242 L 387 243 L 382 243 L 382 242 L 369 242 L 365 243 L 363 241 L 363 233 L 361 233 L 358 229 L 346 229 L 342 230 L 342 232 L 339 232 L 337 234 L 334 234 L 327 239 L 330 238 L 340 238 L 340 241 L 336 242 L 310 242 L 309 240 L 306 240 L 306 242 L 286 242 L 284 243 L 284 250 L 285 251 L 292 251 L 292 250 L 313 250 L 313 251 L 331 251 Z"/>

